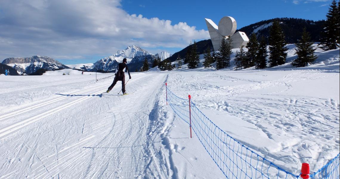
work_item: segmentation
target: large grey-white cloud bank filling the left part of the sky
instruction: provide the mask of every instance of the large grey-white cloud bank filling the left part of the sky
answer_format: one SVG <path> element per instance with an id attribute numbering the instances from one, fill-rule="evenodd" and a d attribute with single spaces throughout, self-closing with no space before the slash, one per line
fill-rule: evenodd
<path id="1" fill-rule="evenodd" d="M 128 14 L 119 0 L 1 0 L 0 59 L 109 55 L 129 45 L 185 47 L 209 38 L 186 22 Z"/>

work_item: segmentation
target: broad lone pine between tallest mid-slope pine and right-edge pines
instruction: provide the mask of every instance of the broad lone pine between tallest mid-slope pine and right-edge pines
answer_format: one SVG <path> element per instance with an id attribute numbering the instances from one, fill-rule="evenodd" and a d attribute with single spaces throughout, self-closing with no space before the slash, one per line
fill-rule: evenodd
<path id="1" fill-rule="evenodd" d="M 318 57 L 314 55 L 315 49 L 312 47 L 313 42 L 310 42 L 309 33 L 306 28 L 303 29 L 301 40 L 296 43 L 297 58 L 292 62 L 293 66 L 304 67 L 314 62 Z"/>

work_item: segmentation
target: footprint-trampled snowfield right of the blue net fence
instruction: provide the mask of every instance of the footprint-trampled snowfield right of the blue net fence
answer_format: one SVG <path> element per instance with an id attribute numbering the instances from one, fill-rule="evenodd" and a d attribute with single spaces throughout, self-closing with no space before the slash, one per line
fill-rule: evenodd
<path id="1" fill-rule="evenodd" d="M 265 71 L 217 72 L 208 76 L 204 73 L 173 73 L 168 86 L 177 95 L 191 94 L 199 109 L 222 114 L 211 119 L 221 124 L 222 129 L 243 144 L 274 159 L 282 166 L 291 168 L 291 171 L 299 168 L 290 164 L 299 162 L 311 163 L 311 167 L 321 168 L 327 163 L 327 158 L 334 157 L 328 156 L 329 153 L 339 151 L 339 130 L 336 129 L 339 126 L 339 101 L 316 97 L 318 92 L 314 92 L 314 96 L 308 95 L 313 93 L 308 93 L 301 84 L 308 88 L 307 82 L 313 84 L 315 81 L 336 79 L 339 73 L 294 70 L 283 71 L 284 75 L 281 77 L 265 74 Z M 305 90 L 307 94 L 302 93 Z M 295 95 L 296 92 L 300 93 Z M 264 134 L 267 139 L 261 138 L 263 144 L 253 144 L 254 141 L 250 140 L 252 137 L 246 139 L 244 132 L 223 128 L 228 123 L 236 123 L 233 121 L 235 119 L 242 119 L 250 124 L 239 122 L 249 128 L 245 131 L 258 131 L 252 135 Z M 300 131 L 306 132 L 302 134 Z M 327 145 L 324 144 L 325 139 L 328 141 Z"/>

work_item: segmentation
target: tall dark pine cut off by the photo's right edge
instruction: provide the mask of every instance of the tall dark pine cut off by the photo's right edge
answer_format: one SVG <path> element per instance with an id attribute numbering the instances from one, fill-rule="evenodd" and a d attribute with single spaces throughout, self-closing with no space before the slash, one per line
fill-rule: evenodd
<path id="1" fill-rule="evenodd" d="M 324 32 L 321 32 L 321 43 L 319 46 L 323 50 L 332 50 L 339 47 L 339 4 L 333 0 L 326 15 Z"/>

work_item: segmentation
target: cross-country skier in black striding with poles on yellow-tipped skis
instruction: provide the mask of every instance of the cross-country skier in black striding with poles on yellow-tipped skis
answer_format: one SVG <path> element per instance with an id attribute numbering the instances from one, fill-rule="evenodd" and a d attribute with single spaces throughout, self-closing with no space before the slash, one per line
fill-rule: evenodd
<path id="1" fill-rule="evenodd" d="M 124 72 L 125 68 L 126 68 L 126 71 L 128 71 L 129 79 L 131 79 L 130 71 L 126 63 L 127 63 L 126 58 L 124 58 L 123 62 L 118 64 L 116 73 L 115 73 L 115 79 L 113 80 L 113 83 L 111 84 L 111 86 L 108 87 L 106 93 L 112 90 L 112 88 L 115 86 L 117 81 L 122 81 L 122 92 L 123 92 L 123 95 L 126 94 L 125 93 L 125 72 Z"/>

